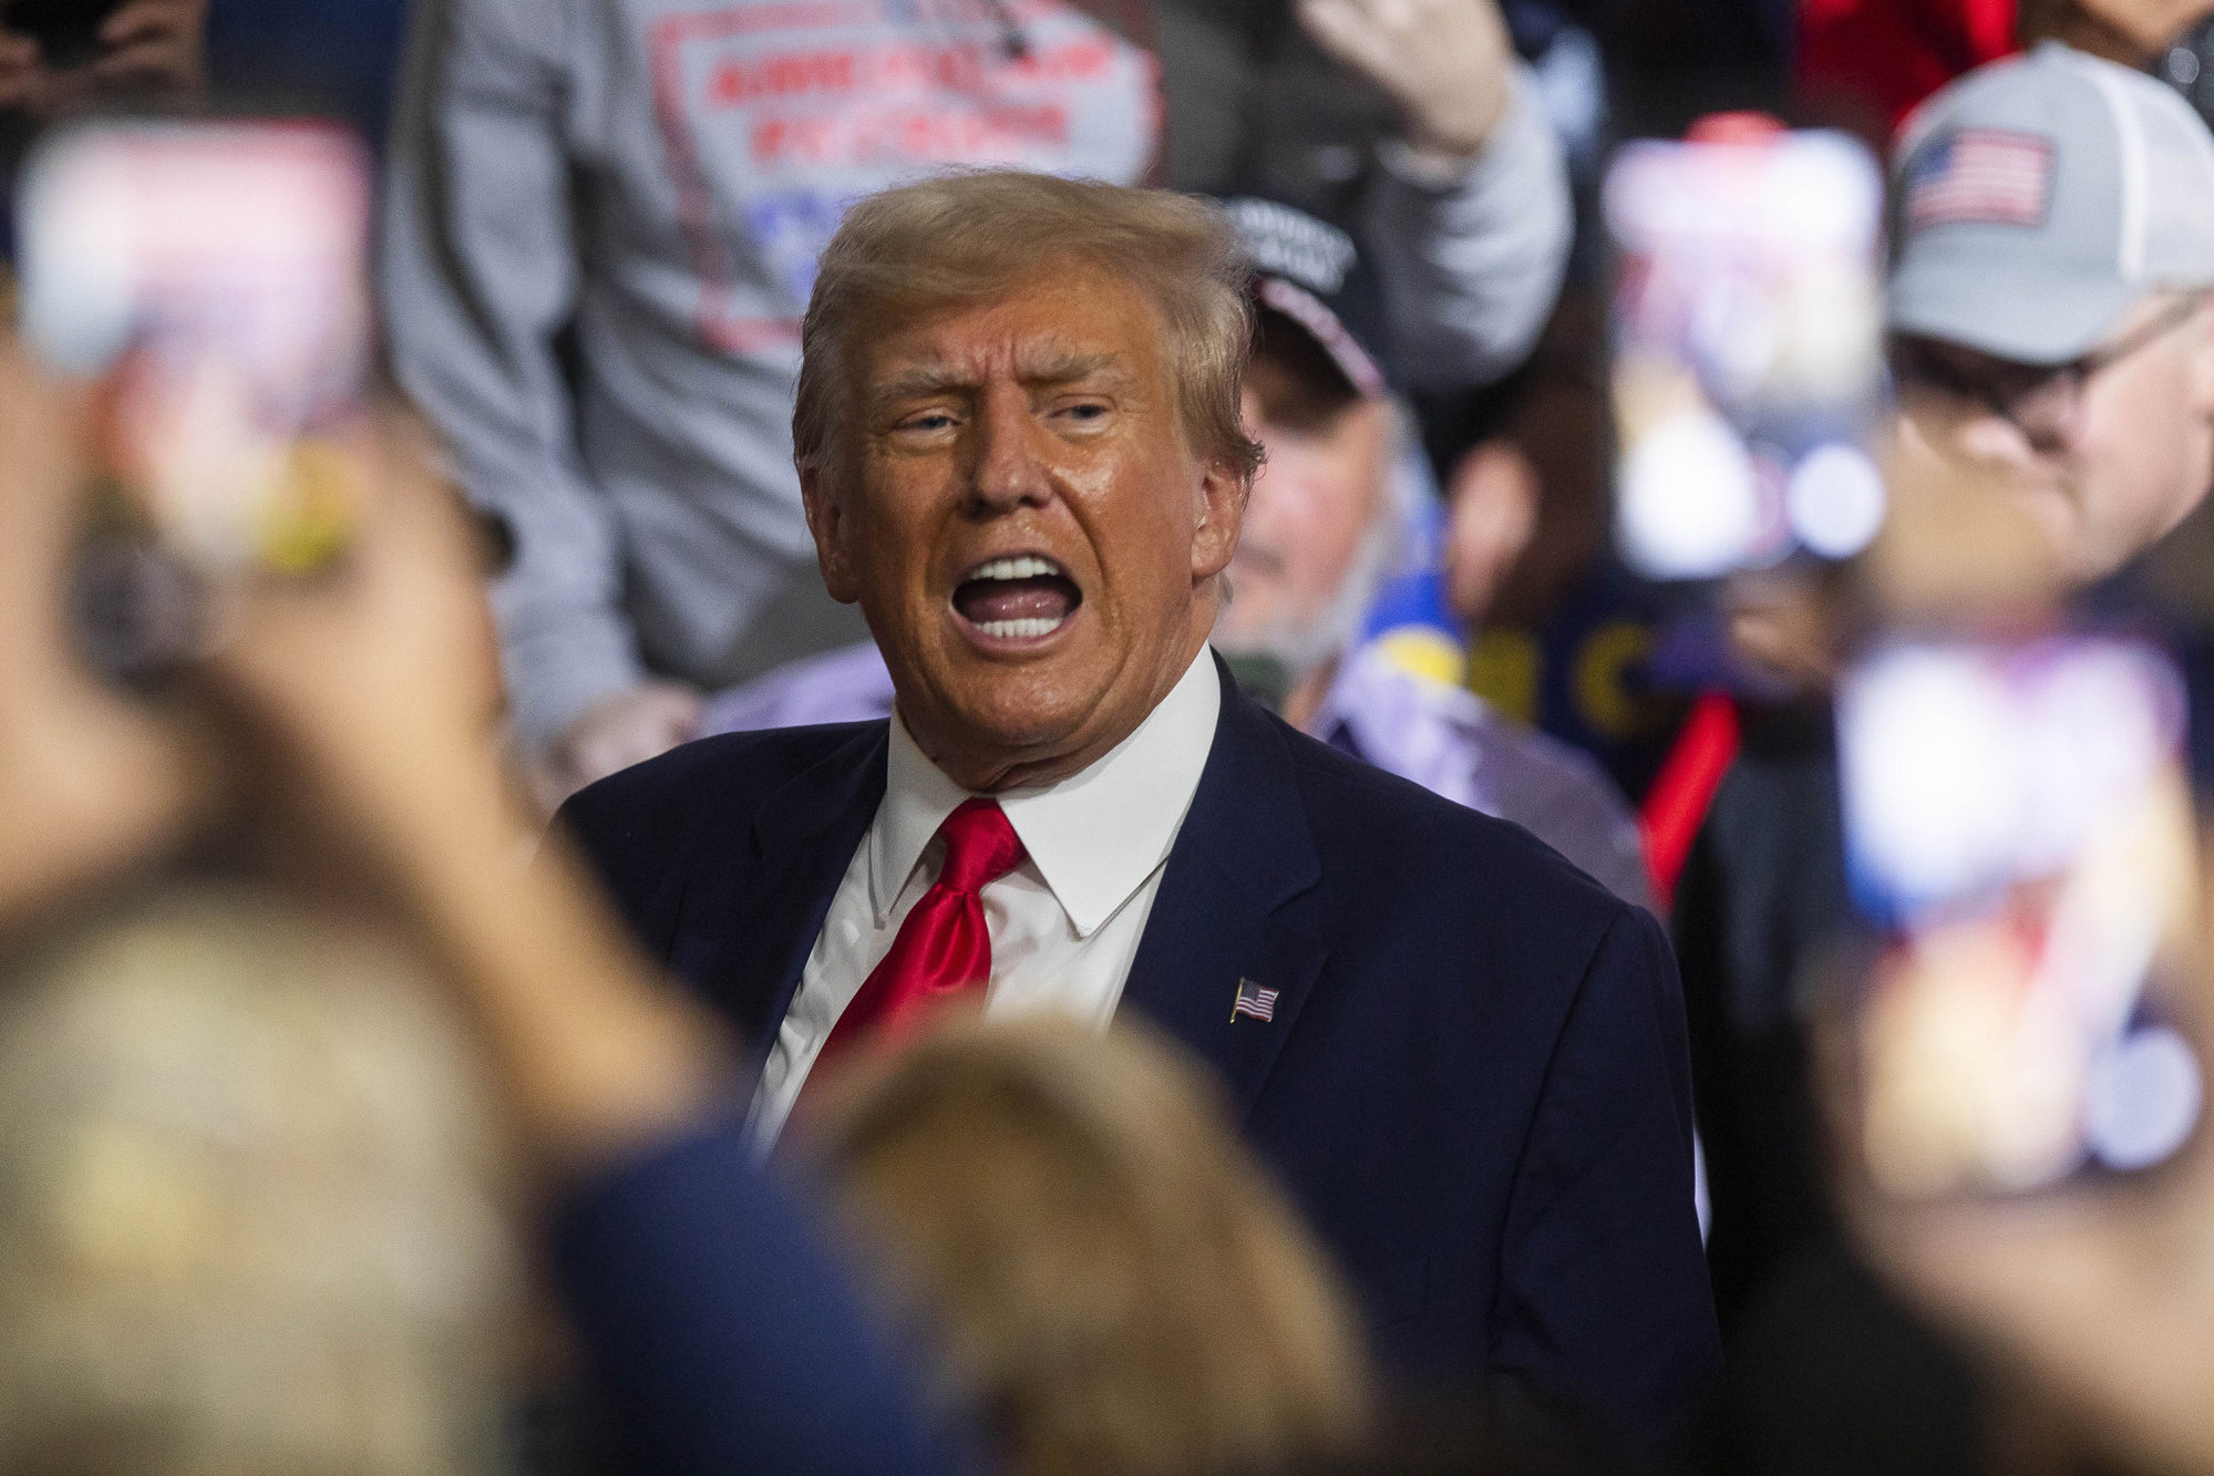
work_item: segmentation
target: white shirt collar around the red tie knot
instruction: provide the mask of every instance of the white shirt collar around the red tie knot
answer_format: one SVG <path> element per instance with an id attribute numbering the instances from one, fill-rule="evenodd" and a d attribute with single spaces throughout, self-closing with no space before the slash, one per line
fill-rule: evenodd
<path id="1" fill-rule="evenodd" d="M 1220 715 L 1222 684 L 1202 646 L 1169 695 L 1096 763 L 1058 783 L 999 797 L 1078 938 L 1089 938 L 1169 859 Z M 890 921 L 892 903 L 939 825 L 968 797 L 923 757 L 894 710 L 883 810 L 868 839 L 868 890 L 879 927 Z"/>

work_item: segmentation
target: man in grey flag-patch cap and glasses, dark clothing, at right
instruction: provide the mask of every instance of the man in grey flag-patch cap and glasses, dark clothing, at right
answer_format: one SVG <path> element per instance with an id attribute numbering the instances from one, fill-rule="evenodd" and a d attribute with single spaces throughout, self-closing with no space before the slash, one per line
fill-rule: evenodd
<path id="1" fill-rule="evenodd" d="M 2004 498 L 2041 531 L 2081 615 L 2137 622 L 2134 562 L 2214 482 L 2207 285 L 2214 137 L 2170 89 L 2057 44 L 1970 73 L 1915 115 L 1893 164 L 1900 467 Z M 1749 715 L 1676 903 L 1716 1297 L 1740 1368 L 1767 1379 L 1747 1385 L 1747 1410 L 1807 1412 L 1827 1385 L 1840 1427 L 1911 1434 L 1917 1458 L 1942 1467 L 1979 1438 L 1970 1376 L 1842 1252 L 1809 1089 L 1818 965 L 1853 918 L 1827 690 L 1835 648 L 1822 651 L 1833 593 L 1787 582 L 1736 615 L 1740 635 L 1791 653 L 1776 666 L 1796 666 L 1796 697 Z M 2203 673 L 2179 655 L 2187 679 Z M 2192 684 L 2203 786 L 2205 682 Z M 1858 1328 L 1858 1341 L 1824 1328 Z M 1895 1352 L 1875 1359 L 1877 1345 Z M 1920 1372 L 1838 1372 L 1886 1361 Z M 1917 1405 L 1917 1392 L 1946 1394 Z M 1920 1414 L 1902 1421 L 1908 1410 Z M 1789 1425 L 1769 1421 L 1762 1438 L 1798 1438 Z"/>

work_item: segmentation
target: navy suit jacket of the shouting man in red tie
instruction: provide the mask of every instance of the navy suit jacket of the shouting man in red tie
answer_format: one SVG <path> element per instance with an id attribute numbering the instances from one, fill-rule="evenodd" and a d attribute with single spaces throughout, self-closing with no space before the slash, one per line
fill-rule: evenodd
<path id="1" fill-rule="evenodd" d="M 1222 717 L 1122 1009 L 1211 1062 L 1382 1350 L 1665 1436 L 1718 1370 L 1660 927 L 1528 832 L 1249 701 Z M 886 786 L 886 724 L 737 732 L 565 810 L 755 1062 Z M 1231 1011 L 1240 980 L 1275 1018 Z"/>

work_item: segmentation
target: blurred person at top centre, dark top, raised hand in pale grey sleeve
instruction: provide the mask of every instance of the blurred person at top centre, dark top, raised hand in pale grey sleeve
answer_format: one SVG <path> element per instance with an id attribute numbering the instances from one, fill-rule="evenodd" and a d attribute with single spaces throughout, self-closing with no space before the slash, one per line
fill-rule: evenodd
<path id="1" fill-rule="evenodd" d="M 1514 60 L 1514 11 L 1534 71 Z M 1559 18 L 1510 0 L 1162 0 L 1149 184 L 1284 201 L 1359 241 L 1401 387 L 1490 383 L 1545 323 L 1572 237 L 1563 133 L 1596 106 Z M 1550 22 L 1550 24 L 1548 24 Z"/>

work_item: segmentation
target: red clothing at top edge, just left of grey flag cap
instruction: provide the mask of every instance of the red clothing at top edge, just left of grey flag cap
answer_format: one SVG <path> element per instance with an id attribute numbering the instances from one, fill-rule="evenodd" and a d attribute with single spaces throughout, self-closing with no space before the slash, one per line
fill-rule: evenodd
<path id="1" fill-rule="evenodd" d="M 2015 0 L 1800 0 L 1802 102 L 1869 108 L 1891 131 L 1953 77 L 2017 51 Z"/>

